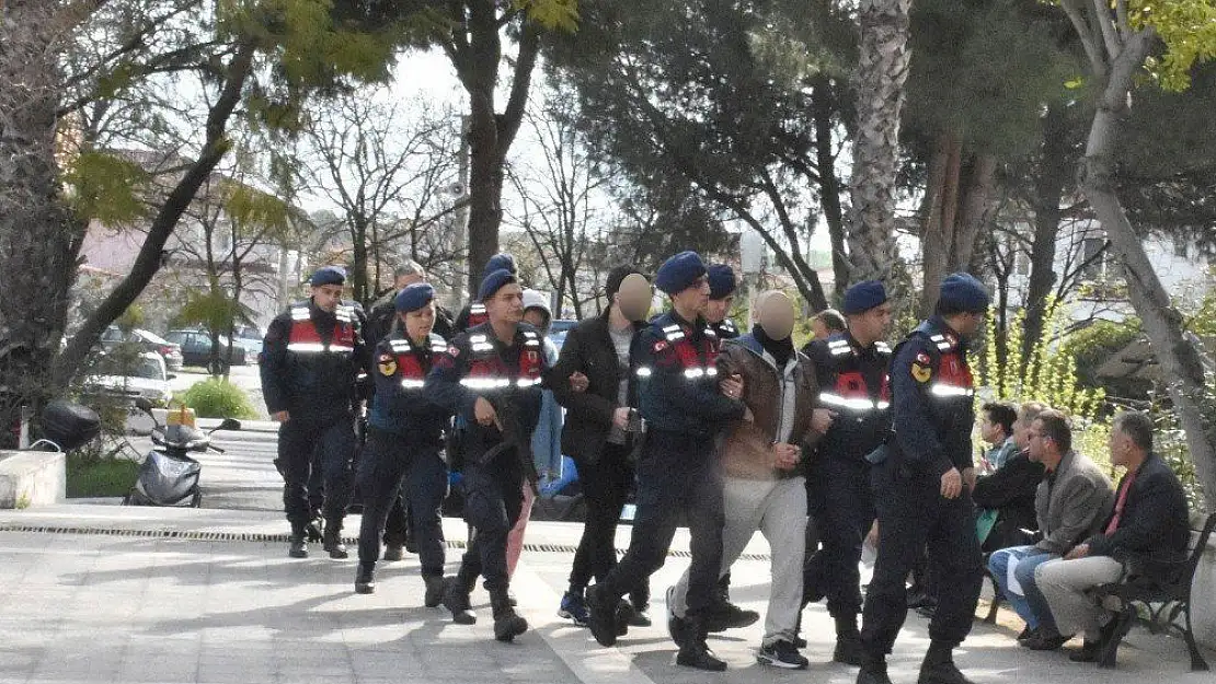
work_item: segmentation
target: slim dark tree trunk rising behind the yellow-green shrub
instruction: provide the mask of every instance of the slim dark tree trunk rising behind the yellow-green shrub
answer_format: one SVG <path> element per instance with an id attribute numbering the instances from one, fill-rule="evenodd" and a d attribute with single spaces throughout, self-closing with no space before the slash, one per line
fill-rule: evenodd
<path id="1" fill-rule="evenodd" d="M 1047 299 L 1055 286 L 1055 238 L 1060 230 L 1060 204 L 1074 169 L 1069 160 L 1066 106 L 1062 103 L 1049 106 L 1042 125 L 1043 143 L 1038 154 L 1038 174 L 1035 177 L 1035 237 L 1030 245 L 1030 279 L 1026 286 L 1020 374 L 1025 374 L 1025 364 L 1030 362 L 1035 343 L 1043 334 Z"/>

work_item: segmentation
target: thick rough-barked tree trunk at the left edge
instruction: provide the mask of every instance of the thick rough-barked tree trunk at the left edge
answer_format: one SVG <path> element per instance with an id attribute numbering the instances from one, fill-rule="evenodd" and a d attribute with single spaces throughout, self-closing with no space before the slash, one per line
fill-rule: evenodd
<path id="1" fill-rule="evenodd" d="M 45 0 L 0 2 L 0 440 L 22 405 L 36 407 L 62 388 L 51 360 L 86 226 L 60 188 L 57 9 Z"/>

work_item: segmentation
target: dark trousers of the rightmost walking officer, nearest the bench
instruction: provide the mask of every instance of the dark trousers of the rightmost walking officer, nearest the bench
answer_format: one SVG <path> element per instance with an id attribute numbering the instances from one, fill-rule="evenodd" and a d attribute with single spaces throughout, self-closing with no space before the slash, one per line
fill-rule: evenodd
<path id="1" fill-rule="evenodd" d="M 928 545 L 934 578 L 942 592 L 929 623 L 929 638 L 947 646 L 972 629 L 984 580 L 970 493 L 941 497 L 941 479 L 913 474 L 890 460 L 873 468 L 878 509 L 878 560 L 866 593 L 861 639 L 872 656 L 885 656 L 907 617 L 908 571 Z"/>

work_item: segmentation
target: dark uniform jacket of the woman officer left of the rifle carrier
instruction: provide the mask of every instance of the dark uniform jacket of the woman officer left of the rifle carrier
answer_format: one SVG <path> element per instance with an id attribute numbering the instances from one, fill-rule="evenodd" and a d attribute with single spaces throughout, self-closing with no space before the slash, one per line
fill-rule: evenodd
<path id="1" fill-rule="evenodd" d="M 367 423 L 409 442 L 407 448 L 439 451 L 450 413 L 423 396 L 427 373 L 435 355 L 447 354 L 447 343 L 432 333 L 423 345 L 393 334 L 376 345 L 372 375 L 376 397 Z"/>

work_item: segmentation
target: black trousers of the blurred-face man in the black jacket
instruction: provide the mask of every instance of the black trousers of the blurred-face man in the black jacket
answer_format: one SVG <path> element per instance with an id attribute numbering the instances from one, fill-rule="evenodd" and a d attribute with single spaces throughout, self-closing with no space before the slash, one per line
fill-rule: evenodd
<path id="1" fill-rule="evenodd" d="M 582 589 L 595 577 L 602 582 L 617 565 L 617 522 L 634 486 L 634 465 L 621 445 L 604 445 L 595 463 L 576 460 L 587 513 L 582 538 L 570 566 L 570 588 Z"/>

